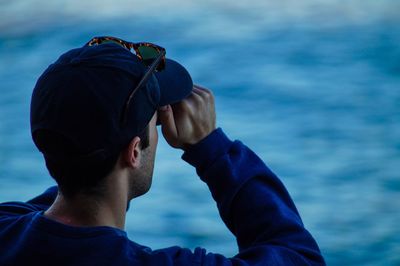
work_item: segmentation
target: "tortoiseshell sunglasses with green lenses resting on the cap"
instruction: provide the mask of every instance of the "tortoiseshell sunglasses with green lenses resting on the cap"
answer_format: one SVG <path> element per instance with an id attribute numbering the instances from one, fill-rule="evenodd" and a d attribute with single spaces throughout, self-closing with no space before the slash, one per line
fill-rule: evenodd
<path id="1" fill-rule="evenodd" d="M 155 71 L 162 71 L 165 69 L 165 54 L 166 51 L 163 47 L 158 46 L 149 42 L 127 42 L 122 39 L 110 36 L 103 37 L 94 37 L 90 41 L 88 41 L 85 46 L 95 46 L 106 43 L 114 43 L 122 46 L 123 48 L 129 50 L 130 52 L 134 51 L 134 54 L 143 62 L 145 66 L 148 67 L 146 73 L 143 75 L 139 83 L 136 87 L 131 91 L 129 97 L 125 103 L 124 112 L 121 118 L 122 126 L 127 124 L 128 121 L 128 110 L 130 102 L 135 95 L 135 93 L 146 84 L 147 80 L 151 76 L 151 74 Z"/>

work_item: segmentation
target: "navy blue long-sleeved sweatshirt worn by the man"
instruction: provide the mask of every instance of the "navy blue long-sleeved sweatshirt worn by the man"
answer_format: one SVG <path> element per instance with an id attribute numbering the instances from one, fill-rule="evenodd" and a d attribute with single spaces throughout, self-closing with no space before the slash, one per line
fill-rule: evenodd
<path id="1" fill-rule="evenodd" d="M 57 187 L 28 202 L 0 204 L 0 265 L 324 265 L 281 181 L 249 148 L 215 130 L 185 152 L 209 187 L 239 253 L 151 250 L 107 226 L 74 227 L 43 216 Z"/>

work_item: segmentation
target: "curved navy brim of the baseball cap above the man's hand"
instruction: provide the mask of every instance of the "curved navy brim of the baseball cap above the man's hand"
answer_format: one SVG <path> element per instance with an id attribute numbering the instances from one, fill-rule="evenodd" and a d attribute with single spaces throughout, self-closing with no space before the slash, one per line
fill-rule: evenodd
<path id="1" fill-rule="evenodd" d="M 193 81 L 178 62 L 166 59 L 165 69 L 155 73 L 160 86 L 160 106 L 177 103 L 191 93 Z"/>

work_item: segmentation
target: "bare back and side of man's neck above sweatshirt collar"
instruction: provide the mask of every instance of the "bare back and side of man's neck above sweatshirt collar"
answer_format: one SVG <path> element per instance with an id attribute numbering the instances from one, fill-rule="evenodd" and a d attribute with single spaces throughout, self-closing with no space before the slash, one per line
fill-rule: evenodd
<path id="1" fill-rule="evenodd" d="M 108 186 L 109 192 L 103 196 L 76 195 L 66 198 L 59 193 L 44 215 L 71 226 L 111 226 L 124 230 L 127 188 L 128 184 L 119 182 Z"/>

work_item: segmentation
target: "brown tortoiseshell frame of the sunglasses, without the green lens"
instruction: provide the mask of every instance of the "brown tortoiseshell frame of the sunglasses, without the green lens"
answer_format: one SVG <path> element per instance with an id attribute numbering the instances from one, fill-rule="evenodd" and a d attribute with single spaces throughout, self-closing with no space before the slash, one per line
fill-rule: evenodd
<path id="1" fill-rule="evenodd" d="M 146 47 L 152 47 L 156 49 L 159 52 L 159 55 L 154 59 L 154 61 L 151 63 L 150 66 L 148 66 L 148 69 L 146 73 L 143 75 L 143 77 L 140 79 L 139 83 L 136 85 L 136 87 L 129 93 L 128 99 L 125 102 L 124 105 L 124 111 L 122 113 L 121 117 L 121 126 L 125 126 L 128 122 L 128 111 L 129 111 L 129 105 L 131 103 L 131 100 L 135 93 L 144 85 L 146 84 L 147 80 L 151 76 L 151 74 L 155 71 L 161 71 L 165 69 L 165 48 L 158 46 L 153 43 L 149 42 L 139 42 L 139 43 L 133 43 L 133 42 L 127 42 L 122 39 L 116 38 L 116 37 L 111 37 L 111 36 L 102 36 L 102 37 L 94 37 L 90 41 L 88 41 L 85 46 L 93 46 L 93 45 L 99 45 L 104 43 L 104 41 L 108 42 L 116 42 L 117 44 L 120 44 L 122 47 L 126 48 L 127 50 L 131 51 L 132 49 L 135 51 L 136 56 L 139 57 L 139 59 L 143 60 L 143 57 L 139 51 L 140 46 L 146 46 Z"/>

